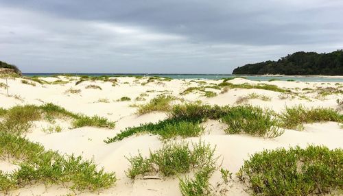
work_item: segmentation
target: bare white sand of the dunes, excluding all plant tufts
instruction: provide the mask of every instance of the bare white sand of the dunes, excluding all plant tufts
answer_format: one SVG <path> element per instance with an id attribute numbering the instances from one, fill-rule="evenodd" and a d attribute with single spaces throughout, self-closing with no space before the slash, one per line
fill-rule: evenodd
<path id="1" fill-rule="evenodd" d="M 53 82 L 56 79 L 68 81 L 67 77 L 45 77 L 46 81 Z M 45 133 L 44 128 L 49 127 L 49 123 L 45 121 L 36 122 L 32 132 L 27 134 L 29 140 L 43 144 L 46 149 L 54 149 L 62 154 L 77 154 L 84 158 L 94 158 L 99 167 L 104 167 L 106 171 L 115 171 L 117 178 L 116 186 L 101 192 L 101 195 L 181 195 L 178 188 L 178 178 L 168 177 L 163 180 L 135 180 L 134 182 L 126 177 L 125 171 L 128 169 L 128 160 L 125 156 L 132 156 L 141 151 L 143 155 L 149 153 L 149 149 L 158 149 L 163 146 L 161 140 L 157 136 L 148 134 L 140 136 L 132 136 L 125 138 L 116 143 L 106 144 L 103 142 L 107 137 L 113 137 L 115 134 L 123 130 L 125 127 L 137 126 L 141 123 L 157 122 L 167 118 L 167 115 L 162 112 L 153 112 L 143 116 L 134 114 L 137 108 L 130 107 L 131 104 L 142 104 L 150 101 L 161 93 L 169 93 L 176 97 L 182 97 L 187 101 L 201 100 L 203 103 L 217 104 L 220 106 L 234 105 L 235 101 L 249 93 L 257 93 L 270 97 L 271 101 L 261 101 L 260 99 L 250 99 L 248 103 L 254 106 L 270 108 L 276 112 L 280 112 L 285 106 L 323 106 L 335 108 L 336 99 L 343 99 L 342 95 L 329 95 L 327 97 L 317 97 L 316 94 L 310 93 L 307 99 L 295 97 L 294 99 L 280 99 L 281 93 L 270 90 L 259 89 L 230 89 L 227 93 L 220 94 L 220 90 L 206 89 L 218 93 L 217 97 L 206 98 L 202 93 L 191 93 L 189 95 L 180 96 L 180 93 L 190 86 L 199 86 L 196 82 L 190 82 L 191 79 L 185 81 L 173 79 L 170 82 L 152 82 L 145 86 L 141 82 L 146 82 L 145 79 L 135 79 L 134 77 L 118 77 L 117 86 L 112 86 L 110 82 L 82 82 L 75 86 L 75 79 L 68 84 L 62 85 L 40 85 L 30 86 L 22 84 L 21 79 L 10 79 L 10 95 L 16 95 L 20 99 L 7 97 L 4 88 L 0 88 L 0 107 L 11 108 L 16 105 L 23 104 L 42 104 L 55 103 L 72 112 L 80 112 L 86 115 L 99 115 L 106 117 L 111 121 L 116 121 L 114 130 L 96 127 L 82 127 L 78 129 L 69 129 L 68 121 L 56 121 L 56 125 L 62 127 L 60 133 Z M 0 79 L 4 82 L 4 79 Z M 218 84 L 221 81 L 206 80 L 207 84 Z M 318 86 L 333 87 L 335 83 L 320 84 L 316 82 L 257 82 L 247 79 L 233 79 L 228 82 L 233 84 L 274 84 L 280 88 L 289 88 L 294 92 L 302 93 L 303 88 L 314 88 Z M 101 86 L 99 89 L 86 89 L 89 84 Z M 80 94 L 64 93 L 69 88 L 82 90 Z M 146 101 L 134 101 L 141 93 L 146 93 L 147 90 L 154 90 L 154 93 L 147 93 Z M 167 92 L 165 90 L 168 90 Z M 132 101 L 116 101 L 121 97 L 130 97 Z M 109 103 L 97 103 L 99 99 L 108 99 Z M 246 135 L 226 135 L 224 134 L 225 125 L 218 121 L 206 121 L 203 123 L 206 127 L 205 134 L 201 137 L 207 143 L 216 146 L 217 156 L 221 156 L 222 167 L 229 169 L 235 173 L 239 170 L 244 160 L 249 155 L 263 149 L 275 149 L 277 147 L 292 147 L 300 145 L 306 147 L 309 144 L 326 145 L 330 149 L 343 147 L 343 130 L 338 123 L 315 123 L 305 125 L 303 132 L 295 130 L 285 130 L 285 133 L 278 138 L 258 138 Z M 198 142 L 200 138 L 188 138 L 187 140 Z M 3 171 L 11 171 L 16 169 L 14 164 L 0 161 L 0 169 Z M 215 172 L 211 177 L 212 184 L 221 182 L 220 173 Z M 216 186 L 215 186 L 216 187 Z M 217 188 L 227 188 L 226 195 L 247 195 L 244 192 L 244 187 L 238 182 L 231 182 L 227 186 Z M 12 191 L 10 195 L 63 195 L 71 193 L 62 186 L 51 186 L 45 188 L 42 184 L 27 186 L 16 191 Z M 97 195 L 97 193 L 82 193 L 81 195 Z"/>

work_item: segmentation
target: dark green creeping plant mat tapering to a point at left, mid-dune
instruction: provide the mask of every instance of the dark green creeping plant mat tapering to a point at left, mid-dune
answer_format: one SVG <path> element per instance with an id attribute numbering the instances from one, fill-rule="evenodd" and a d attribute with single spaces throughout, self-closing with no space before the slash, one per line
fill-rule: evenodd
<path id="1" fill-rule="evenodd" d="M 161 136 L 162 139 L 182 138 L 200 136 L 204 132 L 204 128 L 199 123 L 189 121 L 178 121 L 175 119 L 166 119 L 158 123 L 146 123 L 139 127 L 128 127 L 126 130 L 121 131 L 113 138 L 107 138 L 105 143 L 114 143 L 123 138 L 127 138 L 134 134 L 150 133 Z"/>

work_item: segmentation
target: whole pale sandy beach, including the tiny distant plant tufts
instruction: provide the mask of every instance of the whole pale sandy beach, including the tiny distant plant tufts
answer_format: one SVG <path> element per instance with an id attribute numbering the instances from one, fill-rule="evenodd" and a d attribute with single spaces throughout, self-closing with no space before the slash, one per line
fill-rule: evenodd
<path id="1" fill-rule="evenodd" d="M 5 79 L 0 78 L 5 84 Z M 223 80 L 165 79 L 163 77 L 109 77 L 90 79 L 75 76 L 39 77 L 36 81 L 25 78 L 8 79 L 8 93 L 0 88 L 0 108 L 33 104 L 42 106 L 54 103 L 75 114 L 104 117 L 115 125 L 107 127 L 73 127 L 70 119 L 49 121 L 39 119 L 25 132 L 29 141 L 40 143 L 45 149 L 60 154 L 75 154 L 84 159 L 93 159 L 98 168 L 115 172 L 117 182 L 99 191 L 71 191 L 60 184 L 45 186 L 42 183 L 24 186 L 8 191 L 8 195 L 181 195 L 179 177 L 193 173 L 171 175 L 139 175 L 134 180 L 126 175 L 130 168 L 128 158 L 149 156 L 150 151 L 161 149 L 164 143 L 186 140 L 193 143 L 209 143 L 215 148 L 217 169 L 209 182 L 216 195 L 250 195 L 246 184 L 241 183 L 235 173 L 252 154 L 263 149 L 279 147 L 307 147 L 324 145 L 329 149 L 343 148 L 342 122 L 318 121 L 303 123 L 296 127 L 282 127 L 283 134 L 276 137 L 252 136 L 250 134 L 227 134 L 228 125 L 220 119 L 206 119 L 201 125 L 204 132 L 200 136 L 173 137 L 162 140 L 152 133 L 134 134 L 122 140 L 108 141 L 127 127 L 143 123 L 157 123 L 169 117 L 168 107 L 198 101 L 198 104 L 217 106 L 251 105 L 263 110 L 281 114 L 286 107 L 331 108 L 342 114 L 343 83 L 333 82 L 257 82 L 244 78 Z M 268 86 L 266 86 L 268 85 Z M 214 87 L 213 87 L 214 86 Z M 219 86 L 219 87 L 218 87 Z M 259 86 L 259 87 L 257 87 Z M 193 88 L 192 88 L 193 87 Z M 158 96 L 172 97 L 162 109 L 141 109 Z M 201 103 L 199 103 L 201 102 Z M 153 108 L 153 107 L 152 107 Z M 1 119 L 1 117 L 0 117 Z M 56 128 L 58 127 L 58 128 Z M 104 140 L 108 142 L 105 143 Z M 11 159 L 0 160 L 0 169 L 11 172 L 18 169 Z M 233 180 L 223 182 L 220 168 L 233 173 Z M 248 190 L 248 191 L 247 191 Z M 339 194 L 340 192 L 338 192 Z"/>

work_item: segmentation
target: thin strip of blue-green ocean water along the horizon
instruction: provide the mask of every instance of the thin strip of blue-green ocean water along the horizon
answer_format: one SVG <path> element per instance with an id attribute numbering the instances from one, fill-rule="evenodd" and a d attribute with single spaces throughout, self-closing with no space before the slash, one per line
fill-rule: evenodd
<path id="1" fill-rule="evenodd" d="M 32 76 L 51 76 L 51 75 L 63 75 L 65 73 L 23 73 L 23 75 L 32 77 Z M 159 76 L 159 77 L 171 77 L 174 79 L 222 79 L 227 77 L 245 77 L 250 80 L 257 81 L 268 81 L 270 79 L 279 79 L 279 80 L 294 80 L 300 82 L 343 82 L 342 77 L 313 77 L 313 76 L 267 76 L 267 75 L 232 75 L 232 74 L 143 74 L 143 73 L 68 73 L 71 75 L 88 75 L 88 76 Z"/>

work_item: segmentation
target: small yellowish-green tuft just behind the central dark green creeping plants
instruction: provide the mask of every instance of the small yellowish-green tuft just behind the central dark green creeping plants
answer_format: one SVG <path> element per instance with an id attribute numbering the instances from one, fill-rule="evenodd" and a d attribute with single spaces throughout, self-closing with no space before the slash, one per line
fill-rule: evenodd
<path id="1" fill-rule="evenodd" d="M 147 114 L 153 111 L 165 112 L 170 108 L 170 102 L 175 100 L 176 97 L 171 95 L 158 95 L 152 99 L 149 103 L 139 106 L 137 114 Z"/>

